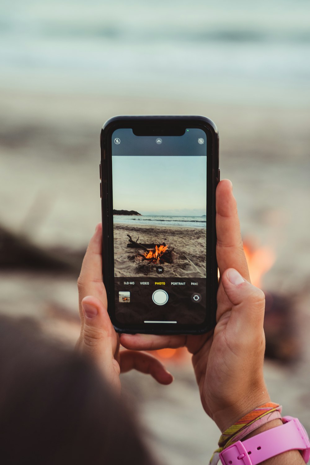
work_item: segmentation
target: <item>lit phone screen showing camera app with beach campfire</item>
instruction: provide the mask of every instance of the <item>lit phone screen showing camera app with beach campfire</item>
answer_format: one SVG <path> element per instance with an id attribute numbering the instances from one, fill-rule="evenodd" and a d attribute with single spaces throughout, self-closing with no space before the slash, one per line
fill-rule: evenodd
<path id="1" fill-rule="evenodd" d="M 207 135 L 112 133 L 115 318 L 199 325 L 206 318 Z"/>

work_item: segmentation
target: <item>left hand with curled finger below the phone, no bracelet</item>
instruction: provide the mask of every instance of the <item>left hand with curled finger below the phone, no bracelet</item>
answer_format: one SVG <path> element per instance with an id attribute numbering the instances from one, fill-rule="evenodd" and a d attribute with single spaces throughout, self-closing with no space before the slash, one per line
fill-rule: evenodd
<path id="1" fill-rule="evenodd" d="M 101 236 L 99 224 L 87 247 L 78 279 L 81 332 L 76 349 L 92 358 L 117 391 L 120 391 L 119 373 L 132 369 L 151 374 L 161 384 L 170 384 L 173 376 L 158 359 L 145 352 L 119 350 L 119 336 L 106 310 Z"/>

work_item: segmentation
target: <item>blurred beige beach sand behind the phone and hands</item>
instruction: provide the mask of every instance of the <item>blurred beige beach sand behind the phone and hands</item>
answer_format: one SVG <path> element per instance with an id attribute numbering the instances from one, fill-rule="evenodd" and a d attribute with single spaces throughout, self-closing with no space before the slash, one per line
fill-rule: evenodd
<path id="1" fill-rule="evenodd" d="M 254 237 L 276 252 L 263 289 L 296 296 L 294 318 L 301 328 L 303 360 L 288 367 L 267 361 L 267 386 L 284 414 L 297 416 L 309 432 L 308 107 L 223 106 L 185 98 L 133 99 L 119 93 L 2 92 L 1 223 L 38 246 L 86 250 L 101 215 L 100 127 L 114 114 L 144 113 L 206 114 L 217 123 L 221 176 L 233 181 L 244 239 Z M 127 232 L 137 239 L 142 228 L 137 235 L 130 231 L 124 231 L 125 244 Z M 173 240 L 181 238 L 175 234 Z M 79 337 L 77 276 L 2 270 L 0 278 L 1 312 L 33 316 L 74 345 Z M 190 363 L 175 367 L 168 360 L 168 367 L 175 376 L 171 386 L 157 385 L 133 371 L 122 375 L 123 390 L 131 388 L 161 462 L 206 464 L 218 441 L 218 428 L 201 407 Z"/>

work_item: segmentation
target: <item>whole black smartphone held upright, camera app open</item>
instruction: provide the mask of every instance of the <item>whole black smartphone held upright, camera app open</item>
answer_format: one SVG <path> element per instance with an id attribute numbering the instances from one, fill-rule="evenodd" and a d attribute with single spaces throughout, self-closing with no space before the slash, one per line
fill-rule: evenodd
<path id="1" fill-rule="evenodd" d="M 116 116 L 101 136 L 102 274 L 118 332 L 215 326 L 218 131 L 203 116 Z"/>

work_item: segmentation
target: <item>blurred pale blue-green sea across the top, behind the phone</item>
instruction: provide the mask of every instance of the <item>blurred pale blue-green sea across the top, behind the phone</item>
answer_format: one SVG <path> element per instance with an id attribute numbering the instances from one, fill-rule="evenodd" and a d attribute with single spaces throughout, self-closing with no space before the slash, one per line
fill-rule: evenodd
<path id="1" fill-rule="evenodd" d="M 308 0 L 2 0 L 0 86 L 308 105 Z"/>

